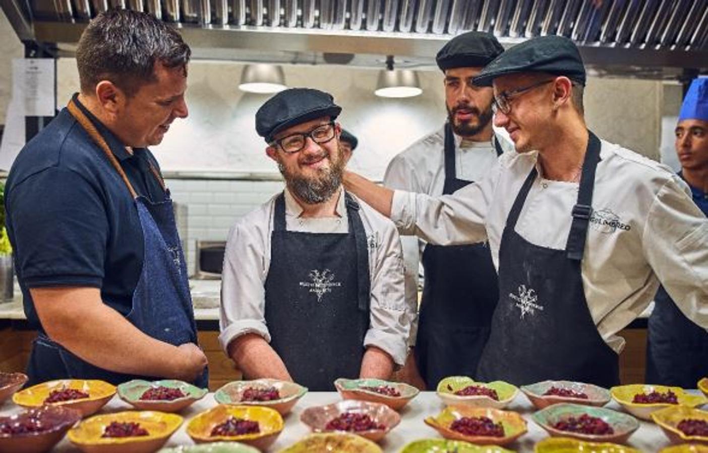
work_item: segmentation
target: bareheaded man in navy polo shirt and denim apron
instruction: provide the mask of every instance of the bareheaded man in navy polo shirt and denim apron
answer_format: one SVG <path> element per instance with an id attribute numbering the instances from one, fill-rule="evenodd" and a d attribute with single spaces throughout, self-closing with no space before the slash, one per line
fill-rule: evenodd
<path id="1" fill-rule="evenodd" d="M 169 192 L 147 146 L 187 116 L 190 49 L 149 14 L 81 35 L 81 93 L 16 159 L 8 234 L 28 321 L 30 383 L 166 377 L 206 387 Z"/>

